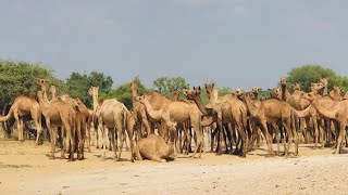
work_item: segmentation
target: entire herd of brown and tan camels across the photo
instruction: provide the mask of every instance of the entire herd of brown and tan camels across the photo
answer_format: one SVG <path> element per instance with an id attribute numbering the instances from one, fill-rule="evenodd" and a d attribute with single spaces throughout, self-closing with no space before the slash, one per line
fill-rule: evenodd
<path id="1" fill-rule="evenodd" d="M 119 160 L 127 141 L 132 151 L 130 161 L 142 158 L 165 161 L 178 153 L 191 152 L 192 142 L 196 147 L 192 157 L 201 157 L 206 131 L 209 132 L 211 152 L 214 152 L 214 141 L 217 141 L 215 152 L 219 155 L 233 153 L 240 157 L 259 147 L 260 140 L 265 141 L 266 156 L 270 157 L 275 155 L 274 142 L 277 144 L 276 155 L 279 155 L 282 142 L 284 155 L 288 156 L 293 143 L 294 155 L 298 155 L 298 145 L 302 141 L 314 142 L 314 147 L 324 147 L 335 140 L 335 154 L 339 154 L 348 141 L 348 93 L 344 95 L 339 87 L 328 92 L 326 78 L 312 83 L 310 92 L 301 91 L 300 84 L 295 82 L 293 94 L 287 89 L 286 78 L 282 78 L 279 87 L 265 100 L 259 99 L 257 87 L 250 92 L 236 89 L 231 94 L 219 96 L 214 84 L 206 83 L 210 102 L 207 105 L 201 100 L 200 87 L 175 91 L 169 99 L 158 91 L 139 95 L 136 82 L 130 82 L 132 110 L 116 99 L 99 100 L 98 87 L 90 87 L 88 91 L 94 106 L 89 109 L 78 99 L 67 94 L 57 96 L 55 87 L 49 86 L 45 79 L 36 78 L 35 82 L 40 87 L 37 99 L 17 96 L 9 113 L 0 116 L 0 122 L 14 118 L 18 140 L 24 141 L 25 122 L 33 119 L 37 130 L 36 144 L 44 141 L 46 127 L 50 134 L 49 156 L 52 159 L 55 145 L 61 147 L 62 159 L 65 159 L 65 153 L 69 153 L 69 160 L 74 160 L 75 153 L 77 159 L 84 159 L 85 142 L 90 152 L 91 129 L 101 136 L 102 143 L 97 143 L 97 147 L 102 145 L 103 160 L 107 147 Z M 179 94 L 186 100 L 178 100 Z"/>

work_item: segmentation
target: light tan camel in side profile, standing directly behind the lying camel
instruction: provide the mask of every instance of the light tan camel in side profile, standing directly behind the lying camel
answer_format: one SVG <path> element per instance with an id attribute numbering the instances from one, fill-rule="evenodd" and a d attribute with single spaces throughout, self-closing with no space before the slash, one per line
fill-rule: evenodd
<path id="1" fill-rule="evenodd" d="M 170 130 L 170 138 L 172 140 L 176 140 L 177 132 L 176 129 L 167 128 L 171 123 L 184 123 L 186 121 L 190 121 L 190 126 L 194 128 L 196 138 L 197 138 L 197 147 L 194 152 L 192 157 L 195 158 L 196 153 L 198 152 L 198 157 L 201 157 L 201 152 L 203 147 L 203 135 L 202 135 L 202 127 L 201 127 L 201 114 L 197 108 L 197 105 L 188 102 L 172 102 L 161 108 L 160 110 L 156 110 L 150 104 L 150 95 L 144 94 L 142 96 L 138 96 L 136 99 L 138 102 L 142 103 L 146 107 L 148 115 L 151 118 L 157 120 L 161 120 L 163 122 L 163 127 L 165 130 L 163 135 L 165 138 L 166 130 Z M 164 139 L 166 140 L 166 139 Z M 176 144 L 176 151 L 179 151 L 178 145 Z"/>

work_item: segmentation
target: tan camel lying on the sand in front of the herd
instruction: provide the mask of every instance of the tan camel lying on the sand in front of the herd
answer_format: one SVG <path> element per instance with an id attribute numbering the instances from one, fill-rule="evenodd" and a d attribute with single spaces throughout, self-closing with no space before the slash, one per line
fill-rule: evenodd
<path id="1" fill-rule="evenodd" d="M 134 154 L 137 160 L 147 158 L 158 162 L 165 162 L 165 159 L 169 159 L 169 157 L 174 154 L 174 144 L 173 142 L 166 144 L 162 136 L 149 134 L 137 143 L 134 147 Z"/>

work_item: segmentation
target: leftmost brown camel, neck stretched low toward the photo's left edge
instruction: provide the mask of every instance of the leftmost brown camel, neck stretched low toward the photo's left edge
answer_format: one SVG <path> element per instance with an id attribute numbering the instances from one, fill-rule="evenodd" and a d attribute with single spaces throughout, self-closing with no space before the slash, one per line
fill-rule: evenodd
<path id="1" fill-rule="evenodd" d="M 0 116 L 0 122 L 8 121 L 12 117 L 15 118 L 17 122 L 18 141 L 24 141 L 25 119 L 28 116 L 32 117 L 35 122 L 37 130 L 36 144 L 38 145 L 42 132 L 41 109 L 39 103 L 35 99 L 26 95 L 17 96 L 8 115 Z"/>

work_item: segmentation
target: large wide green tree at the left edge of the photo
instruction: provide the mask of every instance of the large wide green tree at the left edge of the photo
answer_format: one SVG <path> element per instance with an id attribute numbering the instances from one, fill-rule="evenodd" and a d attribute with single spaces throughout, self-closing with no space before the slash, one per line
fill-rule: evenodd
<path id="1" fill-rule="evenodd" d="M 40 63 L 2 61 L 0 60 L 0 106 L 12 103 L 22 94 L 36 96 L 39 87 L 35 83 L 36 77 L 46 79 L 62 91 L 66 86 L 54 77 L 53 70 Z"/>

